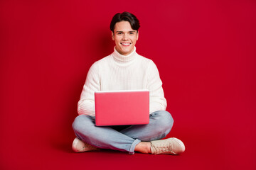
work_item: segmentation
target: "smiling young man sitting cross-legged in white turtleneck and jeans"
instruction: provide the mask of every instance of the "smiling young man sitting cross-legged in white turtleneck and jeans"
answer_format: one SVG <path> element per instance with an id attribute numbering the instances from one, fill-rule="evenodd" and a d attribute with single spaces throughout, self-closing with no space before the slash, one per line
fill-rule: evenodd
<path id="1" fill-rule="evenodd" d="M 117 13 L 110 23 L 114 52 L 92 64 L 78 102 L 78 117 L 73 123 L 77 136 L 75 152 L 114 149 L 134 154 L 181 154 L 185 146 L 174 137 L 159 140 L 174 123 L 165 111 L 166 99 L 156 65 L 138 55 L 139 21 L 132 13 Z M 149 90 L 149 124 L 98 127 L 95 125 L 95 91 Z"/>

